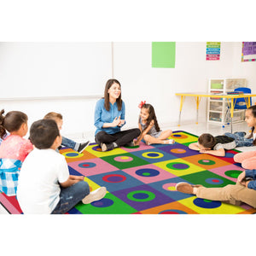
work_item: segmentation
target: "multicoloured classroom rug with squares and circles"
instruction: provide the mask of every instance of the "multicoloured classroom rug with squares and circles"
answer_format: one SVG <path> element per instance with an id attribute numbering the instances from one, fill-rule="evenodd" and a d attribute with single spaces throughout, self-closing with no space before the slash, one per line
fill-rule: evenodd
<path id="1" fill-rule="evenodd" d="M 79 203 L 67 214 L 249 214 L 256 209 L 246 204 L 232 206 L 209 201 L 175 189 L 180 182 L 224 187 L 235 184 L 244 170 L 233 160 L 237 150 L 225 157 L 200 154 L 188 148 L 198 137 L 186 131 L 173 131 L 172 145 L 140 143 L 137 147 L 102 152 L 91 143 L 79 154 L 70 148 L 60 153 L 72 175 L 83 175 L 90 190 L 105 186 L 107 195 L 89 205 Z M 0 202 L 9 213 L 21 213 L 15 196 L 0 193 Z"/>

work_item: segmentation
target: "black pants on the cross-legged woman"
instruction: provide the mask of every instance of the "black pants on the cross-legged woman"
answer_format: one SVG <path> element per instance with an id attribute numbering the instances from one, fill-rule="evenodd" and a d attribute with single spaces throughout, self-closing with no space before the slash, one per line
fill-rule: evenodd
<path id="1" fill-rule="evenodd" d="M 141 131 L 138 128 L 119 131 L 114 134 L 108 134 L 106 131 L 99 131 L 96 134 L 95 141 L 97 144 L 101 143 L 116 143 L 118 147 L 125 146 L 127 143 L 131 143 L 133 139 L 139 137 Z"/>

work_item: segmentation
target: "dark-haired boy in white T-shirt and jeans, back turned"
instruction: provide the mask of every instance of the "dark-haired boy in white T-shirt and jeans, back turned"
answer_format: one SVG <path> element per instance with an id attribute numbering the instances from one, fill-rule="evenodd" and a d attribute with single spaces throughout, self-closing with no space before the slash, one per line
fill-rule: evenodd
<path id="1" fill-rule="evenodd" d="M 54 120 L 34 122 L 30 138 L 36 148 L 21 167 L 17 189 L 24 213 L 65 213 L 79 201 L 89 204 L 106 195 L 105 187 L 90 193 L 84 177 L 69 175 L 65 157 L 55 151 L 61 135 Z"/>

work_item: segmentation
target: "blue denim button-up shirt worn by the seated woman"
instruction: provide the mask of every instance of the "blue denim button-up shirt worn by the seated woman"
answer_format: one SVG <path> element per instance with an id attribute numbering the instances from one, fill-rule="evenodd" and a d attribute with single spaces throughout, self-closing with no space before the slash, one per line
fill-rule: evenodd
<path id="1" fill-rule="evenodd" d="M 114 134 L 119 131 L 121 131 L 120 126 L 115 126 L 115 127 L 108 127 L 108 128 L 102 128 L 104 123 L 112 123 L 113 119 L 119 118 L 124 120 L 125 119 L 125 102 L 122 102 L 122 108 L 121 110 L 118 110 L 117 103 L 114 102 L 111 104 L 109 102 L 109 111 L 104 108 L 104 99 L 100 99 L 98 102 L 96 102 L 96 108 L 95 108 L 95 113 L 94 113 L 94 125 L 96 126 L 96 132 L 95 135 L 99 131 L 106 131 L 108 134 Z M 125 125 L 125 124 L 124 124 Z M 123 125 L 121 125 L 123 126 Z"/>

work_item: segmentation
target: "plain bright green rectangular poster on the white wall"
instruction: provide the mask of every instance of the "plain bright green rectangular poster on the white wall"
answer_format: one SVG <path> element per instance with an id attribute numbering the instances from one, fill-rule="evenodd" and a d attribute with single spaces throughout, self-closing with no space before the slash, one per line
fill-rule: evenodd
<path id="1" fill-rule="evenodd" d="M 175 67 L 175 42 L 152 42 L 152 67 Z"/>

